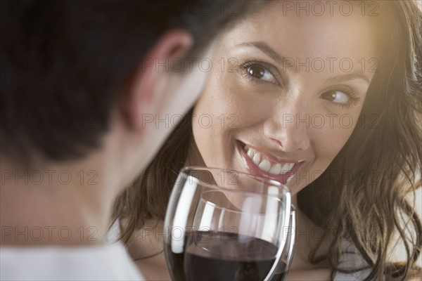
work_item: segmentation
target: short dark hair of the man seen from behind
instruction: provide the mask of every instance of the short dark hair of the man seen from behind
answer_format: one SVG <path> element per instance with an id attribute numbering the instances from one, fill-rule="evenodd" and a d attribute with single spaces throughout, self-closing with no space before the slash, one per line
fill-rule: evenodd
<path id="1" fill-rule="evenodd" d="M 250 9 L 251 1 L 2 1 L 1 152 L 86 155 L 162 34 L 191 32 L 192 56 Z"/>

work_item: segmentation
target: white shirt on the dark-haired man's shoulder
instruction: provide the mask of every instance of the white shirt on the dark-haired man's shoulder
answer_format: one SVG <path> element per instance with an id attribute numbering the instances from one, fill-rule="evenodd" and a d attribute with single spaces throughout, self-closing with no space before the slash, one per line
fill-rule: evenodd
<path id="1" fill-rule="evenodd" d="M 0 247 L 0 280 L 143 280 L 121 242 Z"/>

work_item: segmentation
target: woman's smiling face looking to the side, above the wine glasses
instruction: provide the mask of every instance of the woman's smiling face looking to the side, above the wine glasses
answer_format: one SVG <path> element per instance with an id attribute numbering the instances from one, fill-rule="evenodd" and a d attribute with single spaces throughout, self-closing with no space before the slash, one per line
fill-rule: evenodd
<path id="1" fill-rule="evenodd" d="M 368 17 L 330 13 L 298 16 L 276 1 L 224 34 L 193 112 L 195 164 L 292 194 L 321 175 L 359 126 L 378 63 Z"/>

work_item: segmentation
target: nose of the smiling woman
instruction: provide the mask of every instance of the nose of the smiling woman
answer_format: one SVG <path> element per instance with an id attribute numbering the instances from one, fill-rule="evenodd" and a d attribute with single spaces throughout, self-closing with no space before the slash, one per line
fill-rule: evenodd
<path id="1" fill-rule="evenodd" d="M 264 135 L 284 152 L 309 148 L 309 115 L 307 113 L 281 113 L 264 123 Z"/>

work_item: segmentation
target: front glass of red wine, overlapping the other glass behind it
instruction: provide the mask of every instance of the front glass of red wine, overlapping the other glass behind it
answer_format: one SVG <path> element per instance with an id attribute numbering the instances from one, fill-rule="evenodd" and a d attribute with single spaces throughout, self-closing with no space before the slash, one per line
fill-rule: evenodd
<path id="1" fill-rule="evenodd" d="M 185 167 L 165 216 L 172 280 L 283 280 L 294 244 L 292 214 L 290 191 L 277 181 Z"/>

